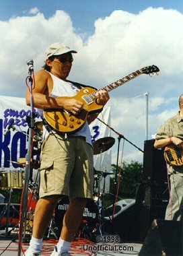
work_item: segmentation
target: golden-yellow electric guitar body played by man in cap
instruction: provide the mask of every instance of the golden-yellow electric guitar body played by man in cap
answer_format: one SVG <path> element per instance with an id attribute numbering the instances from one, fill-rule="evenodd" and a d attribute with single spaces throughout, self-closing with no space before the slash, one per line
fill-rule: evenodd
<path id="1" fill-rule="evenodd" d="M 85 124 L 88 113 L 95 113 L 103 108 L 102 105 L 98 105 L 96 103 L 96 100 L 91 99 L 91 96 L 89 95 L 92 93 L 96 93 L 96 90 L 85 87 L 73 97 L 59 97 L 63 99 L 75 98 L 75 100 L 80 100 L 83 102 L 83 109 L 78 115 L 68 113 L 64 109 L 52 108 L 44 110 L 44 118 L 46 119 L 47 123 L 57 131 L 61 131 L 63 133 L 75 133 Z"/>

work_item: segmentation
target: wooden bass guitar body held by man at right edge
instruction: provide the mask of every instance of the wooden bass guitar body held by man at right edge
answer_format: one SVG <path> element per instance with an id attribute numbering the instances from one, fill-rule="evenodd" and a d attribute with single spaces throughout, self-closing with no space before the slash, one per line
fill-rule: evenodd
<path id="1" fill-rule="evenodd" d="M 183 151 L 176 147 L 174 144 L 166 146 L 164 152 L 168 164 L 174 166 L 183 165 Z"/>

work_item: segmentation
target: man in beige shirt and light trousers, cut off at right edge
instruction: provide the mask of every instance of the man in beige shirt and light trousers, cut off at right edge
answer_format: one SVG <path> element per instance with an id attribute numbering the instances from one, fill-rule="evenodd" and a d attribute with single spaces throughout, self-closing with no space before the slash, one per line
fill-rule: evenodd
<path id="1" fill-rule="evenodd" d="M 170 200 L 166 220 L 181 220 L 183 207 L 183 94 L 179 97 L 180 111 L 159 127 L 155 136 L 155 148 L 165 148 L 170 174 Z"/>

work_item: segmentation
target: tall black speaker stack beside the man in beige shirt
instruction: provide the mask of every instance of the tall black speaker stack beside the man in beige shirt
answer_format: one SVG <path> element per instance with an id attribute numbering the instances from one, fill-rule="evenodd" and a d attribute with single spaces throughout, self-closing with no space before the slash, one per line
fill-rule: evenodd
<path id="1" fill-rule="evenodd" d="M 164 219 L 169 200 L 166 160 L 162 149 L 154 148 L 155 139 L 144 142 L 143 182 L 137 189 L 137 199 L 141 199 L 139 210 L 139 240 L 144 241 L 156 219 Z M 143 196 L 142 196 L 143 195 Z M 139 200 L 140 201 L 140 200 Z"/>

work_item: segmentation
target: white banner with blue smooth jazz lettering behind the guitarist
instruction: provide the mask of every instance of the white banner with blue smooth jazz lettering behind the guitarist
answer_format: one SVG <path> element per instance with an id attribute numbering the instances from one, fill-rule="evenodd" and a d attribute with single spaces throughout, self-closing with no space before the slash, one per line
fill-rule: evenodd
<path id="1" fill-rule="evenodd" d="M 28 143 L 28 119 L 30 119 L 30 106 L 26 105 L 25 98 L 0 96 L 0 170 L 14 170 L 20 168 L 17 164 L 20 158 L 25 158 Z M 36 112 L 36 121 L 41 121 Z M 110 106 L 98 116 L 110 124 Z M 110 131 L 98 119 L 89 125 L 92 142 L 102 137 L 110 136 Z M 38 156 L 39 157 L 39 156 Z M 111 152 L 104 152 L 94 156 L 96 170 L 110 171 Z M 108 184 L 108 182 L 107 182 Z M 106 185 L 108 187 L 108 185 Z"/>

